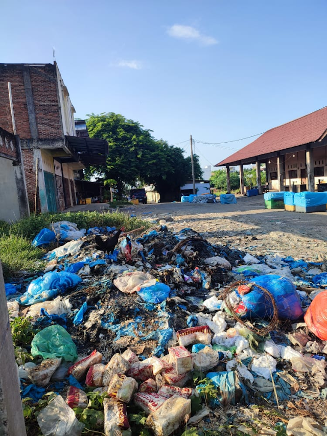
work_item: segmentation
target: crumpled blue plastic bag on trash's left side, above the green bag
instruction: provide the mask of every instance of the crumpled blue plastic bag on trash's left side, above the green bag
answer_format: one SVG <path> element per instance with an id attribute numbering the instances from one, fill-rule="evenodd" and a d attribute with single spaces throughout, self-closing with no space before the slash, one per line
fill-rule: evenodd
<path id="1" fill-rule="evenodd" d="M 46 272 L 44 276 L 33 280 L 17 301 L 26 306 L 40 303 L 66 292 L 69 288 L 74 288 L 81 281 L 80 277 L 71 272 Z"/>

